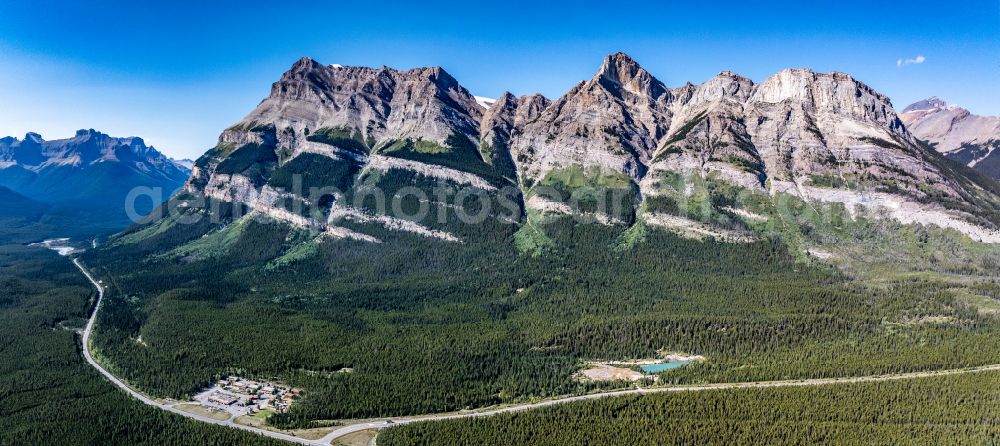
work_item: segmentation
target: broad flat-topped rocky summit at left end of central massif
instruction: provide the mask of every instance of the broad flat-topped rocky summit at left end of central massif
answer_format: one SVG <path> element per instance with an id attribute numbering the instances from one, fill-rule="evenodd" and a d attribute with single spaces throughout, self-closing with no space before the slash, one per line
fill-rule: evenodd
<path id="1" fill-rule="evenodd" d="M 454 133 L 478 138 L 482 113 L 475 98 L 441 67 L 333 68 L 302 58 L 240 124 L 293 129 L 280 138 L 285 148 L 305 139 L 306 130 L 324 128 L 357 132 L 376 145 L 407 138 L 443 143 Z M 224 135 L 223 142 L 244 137 Z"/>

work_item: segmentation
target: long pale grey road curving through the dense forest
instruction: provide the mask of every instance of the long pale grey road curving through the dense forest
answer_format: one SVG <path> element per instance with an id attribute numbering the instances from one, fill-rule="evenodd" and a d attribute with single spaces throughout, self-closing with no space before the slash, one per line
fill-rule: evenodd
<path id="1" fill-rule="evenodd" d="M 950 370 L 938 370 L 930 372 L 912 372 L 912 373 L 895 373 L 890 375 L 876 375 L 876 376 L 860 376 L 860 377 L 847 377 L 847 378 L 824 378 L 824 379 L 801 379 L 801 380 L 789 380 L 789 381 L 764 381 L 764 382 L 744 382 L 744 383 L 719 383 L 719 384 L 704 384 L 696 386 L 675 386 L 675 387 L 653 387 L 653 388 L 639 388 L 639 389 L 628 389 L 628 390 L 618 390 L 611 392 L 601 392 L 601 393 L 591 393 L 587 395 L 579 395 L 565 398 L 557 398 L 539 401 L 535 403 L 512 405 L 495 409 L 482 409 L 482 410 L 472 410 L 463 412 L 454 412 L 447 414 L 433 414 L 433 415 L 420 415 L 413 417 L 395 417 L 386 418 L 379 421 L 371 422 L 361 422 L 357 424 L 351 424 L 347 426 L 340 427 L 330 432 L 323 438 L 319 440 L 306 440 L 299 437 L 293 437 L 291 435 L 282 434 L 280 432 L 274 432 L 264 429 L 259 429 L 256 427 L 245 426 L 242 424 L 236 424 L 233 419 L 230 418 L 226 421 L 215 420 L 212 418 L 203 417 L 200 415 L 192 414 L 189 412 L 184 412 L 170 404 L 161 403 L 156 401 L 142 393 L 139 393 L 135 389 L 132 389 L 127 384 L 122 382 L 120 379 L 116 378 L 111 372 L 108 372 L 104 367 L 94 361 L 94 358 L 90 354 L 90 335 L 94 329 L 94 321 L 97 319 L 97 311 L 101 308 L 101 300 L 104 298 L 104 288 L 90 275 L 83 265 L 80 265 L 78 259 L 73 259 L 73 264 L 83 272 L 83 275 L 87 276 L 87 280 L 97 288 L 97 303 L 94 305 L 94 312 L 90 315 L 90 319 L 87 320 L 87 328 L 83 331 L 83 356 L 91 366 L 93 366 L 97 371 L 101 372 L 105 378 L 114 383 L 116 386 L 122 390 L 128 392 L 134 398 L 142 401 L 143 403 L 172 412 L 181 416 L 192 418 L 205 423 L 211 423 L 219 426 L 232 427 L 236 429 L 242 429 L 245 431 L 254 432 L 260 435 L 266 435 L 271 438 L 276 438 L 279 440 L 290 441 L 293 443 L 306 444 L 306 445 L 330 445 L 335 439 L 340 438 L 344 435 L 359 432 L 368 429 L 384 429 L 387 427 L 398 426 L 400 424 L 415 423 L 418 421 L 441 421 L 441 420 L 453 420 L 458 418 L 473 418 L 473 417 L 486 417 L 490 415 L 497 415 L 502 413 L 510 412 L 520 412 L 525 410 L 537 409 L 540 407 L 553 406 L 556 404 L 571 403 L 574 401 L 586 401 L 598 398 L 609 398 L 615 396 L 625 396 L 625 395 L 645 395 L 653 393 L 664 393 L 664 392 L 693 392 L 701 390 L 723 390 L 723 389 L 750 389 L 750 388 L 764 388 L 764 387 L 801 387 L 801 386 L 822 386 L 831 384 L 849 384 L 849 383 L 862 383 L 862 382 L 877 382 L 877 381 L 896 381 L 902 379 L 916 379 L 916 378 L 929 378 L 932 376 L 945 376 L 945 375 L 961 375 L 966 373 L 977 373 L 977 372 L 987 372 L 987 371 L 1000 371 L 1000 364 L 984 365 L 981 367 L 969 367 L 964 369 L 950 369 Z"/>

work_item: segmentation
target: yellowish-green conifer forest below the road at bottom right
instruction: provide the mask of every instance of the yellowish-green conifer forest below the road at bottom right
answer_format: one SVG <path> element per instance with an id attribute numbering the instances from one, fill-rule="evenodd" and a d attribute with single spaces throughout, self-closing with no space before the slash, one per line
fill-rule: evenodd
<path id="1" fill-rule="evenodd" d="M 380 446 L 637 444 L 993 445 L 1000 374 L 606 398 L 403 425 Z"/>

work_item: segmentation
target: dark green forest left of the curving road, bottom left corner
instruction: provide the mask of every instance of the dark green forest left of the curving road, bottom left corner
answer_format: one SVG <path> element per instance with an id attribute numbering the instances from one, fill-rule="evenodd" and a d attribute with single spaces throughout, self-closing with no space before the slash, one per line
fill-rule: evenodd
<path id="1" fill-rule="evenodd" d="M 64 257 L 0 246 L 0 445 L 280 445 L 133 400 L 88 366 L 93 288 Z"/>

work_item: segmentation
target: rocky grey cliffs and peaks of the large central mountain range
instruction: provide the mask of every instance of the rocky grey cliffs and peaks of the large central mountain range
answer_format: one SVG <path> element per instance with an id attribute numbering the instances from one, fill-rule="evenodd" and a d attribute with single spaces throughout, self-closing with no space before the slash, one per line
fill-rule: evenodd
<path id="1" fill-rule="evenodd" d="M 848 74 L 788 69 L 755 84 L 727 71 L 668 87 L 617 53 L 560 98 L 483 99 L 439 67 L 303 58 L 195 163 L 184 192 L 369 242 L 383 231 L 463 241 L 452 217 L 400 218 L 359 199 L 432 184 L 515 202 L 496 217 L 528 246 L 546 243 L 532 222 L 553 215 L 752 240 L 786 198 L 1000 242 L 997 184 L 941 156 Z M 336 192 L 310 203 L 296 176 Z M 457 194 L 424 202 L 455 210 Z"/>

